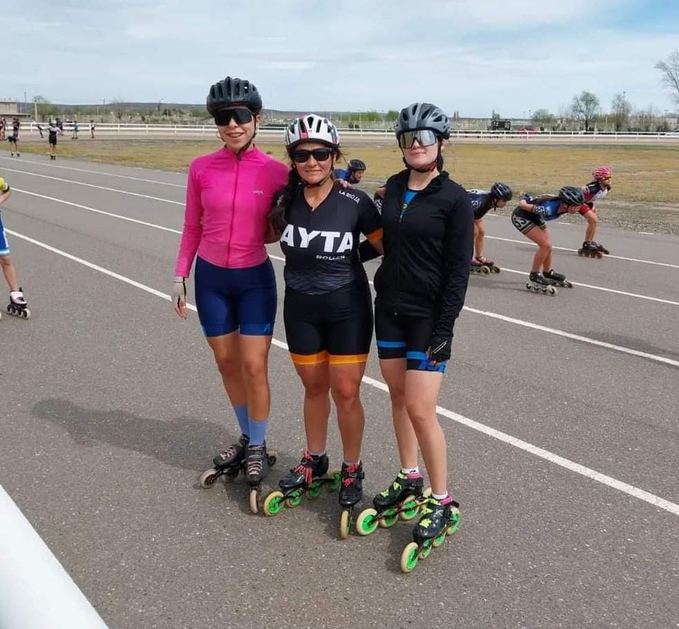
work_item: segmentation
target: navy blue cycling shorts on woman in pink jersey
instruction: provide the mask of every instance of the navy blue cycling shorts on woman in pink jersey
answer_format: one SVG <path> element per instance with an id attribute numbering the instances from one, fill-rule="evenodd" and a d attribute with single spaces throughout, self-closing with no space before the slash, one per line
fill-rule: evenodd
<path id="1" fill-rule="evenodd" d="M 245 269 L 225 269 L 196 259 L 196 308 L 206 337 L 236 330 L 243 335 L 270 336 L 277 306 L 270 259 Z"/>

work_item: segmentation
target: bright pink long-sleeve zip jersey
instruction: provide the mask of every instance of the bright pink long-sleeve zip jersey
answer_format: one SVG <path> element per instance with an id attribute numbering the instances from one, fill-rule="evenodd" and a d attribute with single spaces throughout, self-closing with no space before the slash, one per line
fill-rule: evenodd
<path id="1" fill-rule="evenodd" d="M 189 276 L 196 252 L 226 268 L 263 263 L 267 215 L 287 181 L 288 167 L 257 147 L 240 160 L 224 148 L 191 162 L 175 274 Z"/>

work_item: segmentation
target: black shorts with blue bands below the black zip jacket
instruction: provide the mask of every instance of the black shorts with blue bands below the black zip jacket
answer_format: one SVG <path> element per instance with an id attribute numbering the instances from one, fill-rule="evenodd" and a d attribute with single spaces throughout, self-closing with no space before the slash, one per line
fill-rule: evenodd
<path id="1" fill-rule="evenodd" d="M 406 369 L 417 371 L 445 371 L 445 362 L 429 364 L 427 350 L 434 331 L 431 317 L 396 315 L 391 310 L 375 308 L 375 339 L 380 360 L 406 359 Z"/>

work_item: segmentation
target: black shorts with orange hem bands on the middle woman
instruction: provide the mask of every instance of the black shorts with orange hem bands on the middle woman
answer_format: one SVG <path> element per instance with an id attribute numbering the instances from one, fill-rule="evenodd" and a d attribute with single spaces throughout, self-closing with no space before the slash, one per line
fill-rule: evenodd
<path id="1" fill-rule="evenodd" d="M 296 365 L 364 363 L 373 338 L 373 305 L 365 276 L 342 288 L 308 295 L 286 288 L 286 337 Z"/>

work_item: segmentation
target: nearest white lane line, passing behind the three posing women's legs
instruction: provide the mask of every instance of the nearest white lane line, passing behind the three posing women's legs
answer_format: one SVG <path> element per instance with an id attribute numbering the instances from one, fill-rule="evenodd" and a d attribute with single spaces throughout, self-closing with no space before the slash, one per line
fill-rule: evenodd
<path id="1" fill-rule="evenodd" d="M 155 288 L 151 288 L 150 286 L 147 286 L 145 284 L 142 284 L 138 281 L 135 281 L 133 279 L 130 279 L 129 277 L 126 277 L 124 275 L 120 275 L 119 273 L 115 273 L 113 271 L 110 271 L 109 269 L 106 269 L 104 267 L 101 267 L 99 265 L 93 264 L 91 262 L 88 262 L 86 260 L 83 260 L 82 258 L 78 258 L 76 256 L 73 256 L 72 254 L 68 254 L 62 250 L 57 249 L 56 247 L 52 247 L 51 245 L 47 245 L 46 243 L 42 243 L 41 241 L 37 241 L 34 238 L 30 238 L 29 236 L 24 236 L 23 234 L 18 234 L 17 232 L 10 231 L 9 229 L 6 230 L 9 234 L 12 234 L 12 236 L 17 236 L 17 238 L 22 238 L 23 240 L 27 241 L 28 243 L 32 243 L 33 245 L 37 245 L 38 247 L 42 247 L 43 249 L 46 249 L 48 251 L 51 251 L 55 254 L 58 254 L 59 256 L 64 256 L 64 258 L 67 258 L 69 260 L 72 260 L 74 262 L 77 262 L 79 264 L 82 264 L 86 267 L 89 267 L 95 271 L 98 271 L 100 273 L 103 273 L 105 275 L 111 276 L 115 279 L 119 279 L 120 281 L 123 281 L 125 283 L 128 283 L 136 288 L 140 288 L 141 290 L 145 290 L 146 292 L 151 293 L 152 295 L 155 295 L 156 297 L 160 297 L 161 299 L 165 299 L 166 301 L 172 301 L 171 295 L 160 292 L 160 290 L 156 290 Z M 189 310 L 193 310 L 196 312 L 196 306 L 194 306 L 192 303 L 187 303 L 186 304 L 187 308 Z M 481 311 L 478 311 L 481 312 Z M 283 341 L 279 341 L 278 339 L 272 339 L 272 344 L 283 349 L 283 350 L 288 350 L 287 344 L 283 343 Z M 374 378 L 364 376 L 363 377 L 363 382 L 368 384 L 369 386 L 373 386 L 375 388 L 380 389 L 380 391 L 388 391 L 387 385 L 384 384 L 384 382 L 380 382 L 380 380 L 376 380 Z M 458 413 L 454 413 L 453 411 L 449 411 L 448 409 L 443 408 L 443 406 L 436 406 L 436 412 L 439 415 L 443 415 L 443 417 L 447 417 L 450 420 L 453 420 L 454 422 L 458 422 L 460 424 L 463 424 L 471 429 L 474 429 L 476 431 L 479 431 L 485 435 L 488 435 L 494 439 L 500 440 L 506 444 L 512 445 L 514 447 L 517 447 L 523 451 L 526 451 L 528 453 L 531 453 L 535 456 L 539 456 L 540 458 L 543 458 L 545 460 L 548 460 L 554 464 L 559 465 L 560 467 L 564 467 L 570 471 L 573 471 L 575 473 L 578 473 L 582 476 L 586 476 L 587 478 L 591 478 L 592 480 L 595 480 L 597 482 L 602 483 L 602 485 L 606 485 L 608 487 L 611 487 L 612 489 L 617 489 L 617 491 L 622 491 L 624 494 L 628 494 L 629 496 L 633 496 L 633 498 L 638 498 L 639 500 L 644 500 L 647 503 L 650 503 L 651 505 L 654 505 L 655 507 L 658 507 L 659 509 L 664 509 L 665 511 L 669 511 L 671 514 L 674 514 L 676 516 L 679 516 L 679 505 L 675 503 L 671 503 L 669 500 L 665 500 L 664 498 L 660 498 L 660 496 L 655 496 L 655 494 L 649 493 L 649 491 L 645 491 L 644 489 L 640 489 L 639 487 L 635 487 L 634 485 L 628 485 L 626 482 L 622 482 L 620 480 L 617 480 L 611 476 L 606 476 L 605 474 L 602 474 L 600 472 L 597 472 L 594 469 L 590 469 L 589 467 L 585 467 L 584 465 L 581 465 L 579 463 L 576 463 L 574 461 L 571 461 L 569 459 L 566 459 L 564 457 L 561 457 L 555 453 L 552 453 L 548 450 L 544 450 L 540 447 L 534 446 L 533 444 L 523 441 L 519 438 L 512 437 L 512 435 L 508 435 L 507 433 L 503 433 L 499 430 L 496 430 L 494 428 L 491 428 L 490 426 L 486 426 L 485 424 L 481 424 L 480 422 L 476 422 L 474 420 L 469 419 L 469 417 L 465 417 L 464 415 L 458 415 Z"/>

